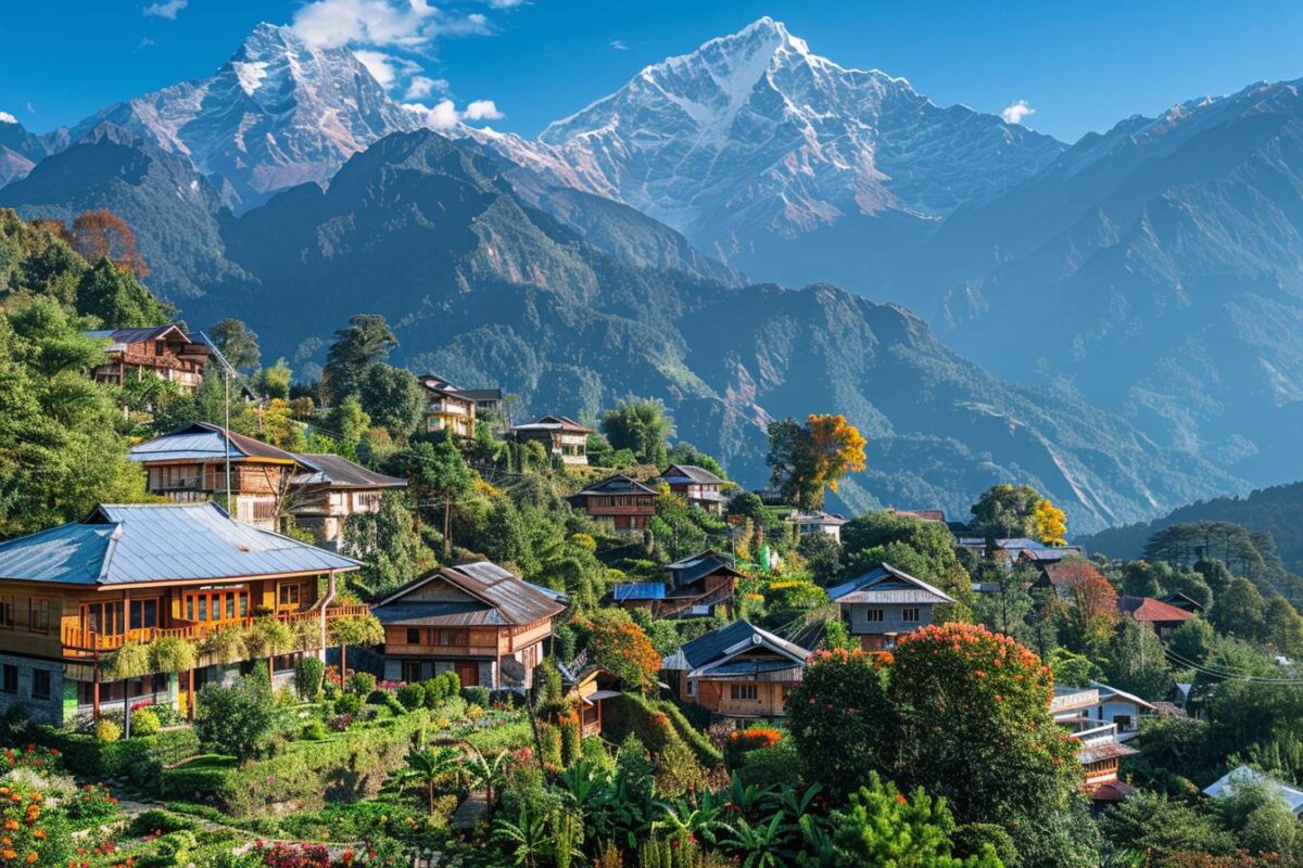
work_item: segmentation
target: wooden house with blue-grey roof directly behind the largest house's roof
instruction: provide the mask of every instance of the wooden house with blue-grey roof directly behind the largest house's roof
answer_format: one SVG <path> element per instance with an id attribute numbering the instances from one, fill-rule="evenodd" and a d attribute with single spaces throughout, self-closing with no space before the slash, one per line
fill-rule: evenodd
<path id="1" fill-rule="evenodd" d="M 149 471 L 150 492 L 179 504 L 229 495 L 233 518 L 267 530 L 288 511 L 292 480 L 309 470 L 293 453 L 207 422 L 133 446 L 130 457 Z"/>

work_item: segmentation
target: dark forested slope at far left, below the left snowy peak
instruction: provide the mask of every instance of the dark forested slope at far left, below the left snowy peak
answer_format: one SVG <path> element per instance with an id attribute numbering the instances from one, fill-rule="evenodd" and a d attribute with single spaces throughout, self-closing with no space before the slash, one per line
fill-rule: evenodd
<path id="1" fill-rule="evenodd" d="M 223 254 L 218 194 L 188 160 L 103 124 L 0 189 L 25 217 L 70 221 L 108 208 L 136 230 L 150 284 L 175 302 L 212 292 L 240 272 Z"/>

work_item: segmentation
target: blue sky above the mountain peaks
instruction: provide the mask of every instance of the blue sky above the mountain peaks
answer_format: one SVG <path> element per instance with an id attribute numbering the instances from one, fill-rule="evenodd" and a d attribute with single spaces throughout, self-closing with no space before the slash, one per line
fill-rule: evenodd
<path id="1" fill-rule="evenodd" d="M 908 78 L 941 104 L 999 112 L 1075 141 L 1203 94 L 1303 77 L 1303 4 L 770 0 L 65 0 L 4 12 L 0 112 L 43 131 L 219 66 L 258 21 L 384 53 L 422 102 L 493 100 L 534 135 L 644 65 L 769 14 L 816 53 Z M 413 5 L 416 12 L 413 12 Z M 306 25 L 305 25 L 306 26 Z M 371 57 L 377 55 L 373 53 Z M 443 83 L 446 82 L 446 85 Z M 482 112 L 491 115 L 491 112 Z"/>

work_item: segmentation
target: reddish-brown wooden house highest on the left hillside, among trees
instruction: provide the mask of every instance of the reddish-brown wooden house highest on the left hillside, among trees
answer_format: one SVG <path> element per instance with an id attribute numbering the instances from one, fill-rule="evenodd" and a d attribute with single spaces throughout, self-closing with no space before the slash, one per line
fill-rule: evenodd
<path id="1" fill-rule="evenodd" d="M 177 325 L 104 329 L 86 336 L 108 341 L 104 362 L 90 372 L 96 383 L 125 385 L 128 380 L 156 376 L 193 393 L 203 381 L 208 347 L 192 341 Z"/>

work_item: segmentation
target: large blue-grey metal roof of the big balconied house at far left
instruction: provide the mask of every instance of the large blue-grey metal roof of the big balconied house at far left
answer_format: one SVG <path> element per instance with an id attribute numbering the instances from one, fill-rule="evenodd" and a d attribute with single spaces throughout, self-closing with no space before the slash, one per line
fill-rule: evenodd
<path id="1" fill-rule="evenodd" d="M 237 522 L 211 502 L 100 505 L 86 522 L 0 543 L 0 576 L 22 582 L 215 580 L 360 566 Z"/>

